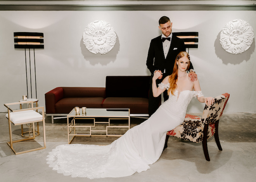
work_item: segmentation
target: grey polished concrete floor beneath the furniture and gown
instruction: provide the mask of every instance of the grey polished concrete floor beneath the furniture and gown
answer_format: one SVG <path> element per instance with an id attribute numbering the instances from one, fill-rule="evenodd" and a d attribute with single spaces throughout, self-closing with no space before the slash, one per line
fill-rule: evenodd
<path id="1" fill-rule="evenodd" d="M 150 169 L 129 177 L 87 179 L 64 176 L 52 170 L 46 163 L 48 152 L 61 144 L 67 144 L 65 119 L 51 124 L 46 117 L 47 147 L 43 150 L 14 155 L 6 142 L 9 140 L 6 113 L 0 113 L 0 181 L 2 182 L 253 182 L 256 179 L 256 114 L 223 114 L 219 136 L 223 151 L 219 151 L 214 138 L 208 140 L 211 161 L 204 158 L 201 143 L 190 143 L 170 137 L 168 148 Z M 195 114 L 195 113 L 190 113 Z M 201 114 L 195 114 L 200 116 Z M 131 126 L 144 119 L 131 118 Z M 12 126 L 14 138 L 20 138 L 20 126 Z M 42 126 L 40 126 L 40 131 Z M 72 143 L 107 145 L 114 137 L 77 137 Z M 42 143 L 42 134 L 35 141 Z"/>

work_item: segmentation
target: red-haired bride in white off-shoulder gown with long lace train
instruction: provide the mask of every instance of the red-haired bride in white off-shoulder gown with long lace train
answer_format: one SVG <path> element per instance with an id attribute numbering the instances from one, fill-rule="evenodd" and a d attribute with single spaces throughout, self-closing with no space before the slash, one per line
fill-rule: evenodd
<path id="1" fill-rule="evenodd" d="M 49 167 L 64 175 L 90 179 L 125 177 L 149 169 L 149 165 L 156 162 L 163 152 L 166 132 L 184 121 L 190 100 L 197 97 L 200 102 L 213 104 L 212 97 L 202 95 L 199 81 L 190 81 L 186 72 L 189 64 L 189 54 L 179 53 L 173 74 L 164 78 L 159 87 L 156 86 L 156 79 L 161 73 L 156 71 L 153 95 L 157 97 L 168 89 L 170 96 L 149 119 L 129 129 L 107 146 L 57 146 L 47 156 Z"/>

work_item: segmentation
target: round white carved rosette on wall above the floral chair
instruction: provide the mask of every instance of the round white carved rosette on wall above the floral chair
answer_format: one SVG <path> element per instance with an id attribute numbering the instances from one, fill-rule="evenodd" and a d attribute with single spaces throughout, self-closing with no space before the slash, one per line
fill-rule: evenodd
<path id="1" fill-rule="evenodd" d="M 228 22 L 220 32 L 220 44 L 231 54 L 243 53 L 253 43 L 253 28 L 245 20 Z"/>

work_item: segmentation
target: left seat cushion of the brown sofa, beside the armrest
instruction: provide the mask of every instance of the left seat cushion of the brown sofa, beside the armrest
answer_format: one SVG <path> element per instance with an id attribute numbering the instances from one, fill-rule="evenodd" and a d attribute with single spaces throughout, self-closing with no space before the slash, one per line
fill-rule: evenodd
<path id="1" fill-rule="evenodd" d="M 101 108 L 103 97 L 73 97 L 63 98 L 55 104 L 55 113 L 67 114 L 74 107 Z"/>

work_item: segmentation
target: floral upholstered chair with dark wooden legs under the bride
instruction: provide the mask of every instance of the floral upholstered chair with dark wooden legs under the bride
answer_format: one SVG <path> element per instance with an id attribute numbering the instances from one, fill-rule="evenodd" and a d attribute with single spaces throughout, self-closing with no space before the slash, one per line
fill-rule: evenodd
<path id="1" fill-rule="evenodd" d="M 228 99 L 228 93 L 215 97 L 213 105 L 205 105 L 202 117 L 186 114 L 185 121 L 180 126 L 167 132 L 164 147 L 167 147 L 169 136 L 175 136 L 196 143 L 202 142 L 204 156 L 206 160 L 210 161 L 207 139 L 214 135 L 219 150 L 222 150 L 218 136 L 218 124 Z"/>

